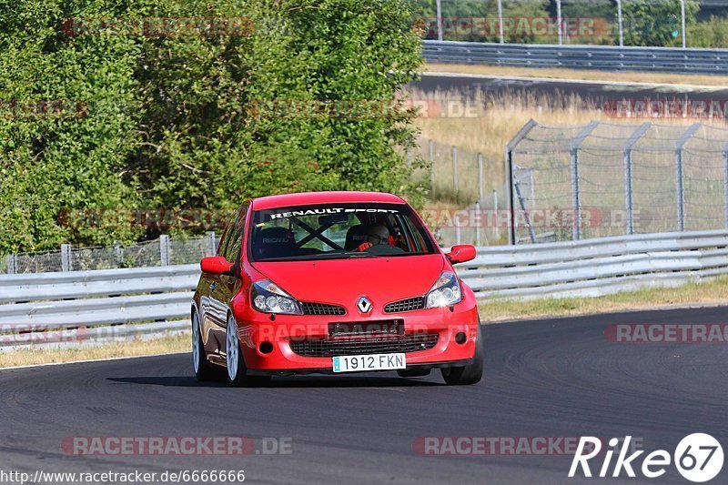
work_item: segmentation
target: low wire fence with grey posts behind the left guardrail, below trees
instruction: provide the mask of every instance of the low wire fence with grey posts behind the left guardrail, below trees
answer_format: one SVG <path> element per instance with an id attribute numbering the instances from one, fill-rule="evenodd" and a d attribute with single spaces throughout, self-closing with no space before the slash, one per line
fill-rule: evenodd
<path id="1" fill-rule="evenodd" d="M 0 258 L 0 274 L 85 271 L 90 269 L 146 268 L 198 263 L 215 254 L 219 236 L 161 236 L 128 246 L 74 248 L 61 245 L 59 251 L 15 253 Z"/>

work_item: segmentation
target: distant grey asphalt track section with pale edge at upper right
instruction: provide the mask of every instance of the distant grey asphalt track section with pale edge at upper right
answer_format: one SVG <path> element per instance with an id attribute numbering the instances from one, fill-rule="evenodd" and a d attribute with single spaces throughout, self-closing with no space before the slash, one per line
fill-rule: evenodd
<path id="1" fill-rule="evenodd" d="M 489 95 L 500 96 L 530 93 L 534 96 L 581 96 L 585 102 L 604 103 L 606 101 L 634 100 L 674 100 L 690 101 L 728 101 L 728 89 L 723 86 L 681 86 L 650 85 L 645 83 L 613 83 L 598 81 L 564 81 L 559 79 L 539 79 L 528 77 L 497 77 L 479 75 L 458 75 L 425 73 L 419 83 L 412 85 L 425 93 L 436 90 L 454 90 L 463 96 L 481 90 Z"/>

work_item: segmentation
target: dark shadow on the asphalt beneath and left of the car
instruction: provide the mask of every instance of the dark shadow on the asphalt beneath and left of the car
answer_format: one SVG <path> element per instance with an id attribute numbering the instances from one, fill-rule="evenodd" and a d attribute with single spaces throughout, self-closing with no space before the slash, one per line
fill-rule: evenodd
<path id="1" fill-rule="evenodd" d="M 200 382 L 194 376 L 152 376 L 106 378 L 112 382 L 126 384 L 142 384 L 146 386 L 165 386 L 173 388 L 228 388 L 225 380 Z M 339 377 L 339 376 L 296 376 L 274 377 L 270 382 L 258 389 L 286 389 L 286 388 L 412 388 L 426 386 L 444 386 L 444 382 L 424 380 L 422 378 L 400 377 Z"/>

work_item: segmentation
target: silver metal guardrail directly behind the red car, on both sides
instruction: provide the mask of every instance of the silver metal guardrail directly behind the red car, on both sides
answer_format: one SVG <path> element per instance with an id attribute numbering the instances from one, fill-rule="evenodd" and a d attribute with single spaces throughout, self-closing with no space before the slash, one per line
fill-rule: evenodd
<path id="1" fill-rule="evenodd" d="M 728 274 L 728 231 L 478 248 L 458 273 L 478 298 L 593 297 Z M 0 277 L 0 349 L 189 328 L 198 265 Z"/>

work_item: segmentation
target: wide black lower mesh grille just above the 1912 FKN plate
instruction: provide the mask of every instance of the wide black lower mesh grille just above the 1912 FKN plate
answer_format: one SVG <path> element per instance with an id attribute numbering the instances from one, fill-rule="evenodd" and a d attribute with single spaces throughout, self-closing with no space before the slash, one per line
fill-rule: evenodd
<path id="1" fill-rule="evenodd" d="M 334 357 L 362 354 L 417 352 L 435 347 L 438 334 L 407 335 L 396 338 L 347 338 L 291 340 L 290 349 L 301 357 Z"/>

